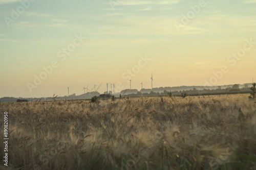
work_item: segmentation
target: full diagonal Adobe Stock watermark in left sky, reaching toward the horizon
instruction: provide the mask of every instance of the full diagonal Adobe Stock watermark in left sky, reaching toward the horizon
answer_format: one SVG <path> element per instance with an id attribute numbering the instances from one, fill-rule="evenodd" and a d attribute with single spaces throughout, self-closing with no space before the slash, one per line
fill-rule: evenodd
<path id="1" fill-rule="evenodd" d="M 73 39 L 72 43 L 68 44 L 67 47 L 62 47 L 61 50 L 57 52 L 57 58 L 60 58 L 60 61 L 65 61 L 67 56 L 70 56 L 71 53 L 74 52 L 75 49 L 86 39 L 86 37 L 83 37 L 82 34 L 75 34 L 75 37 L 76 38 Z M 53 60 L 50 65 L 42 66 L 43 71 L 41 71 L 38 75 L 34 75 L 33 83 L 27 83 L 30 93 L 32 93 L 34 88 L 41 85 L 42 81 L 46 80 L 48 76 L 52 74 L 53 70 L 58 67 L 59 62 L 57 60 Z"/>

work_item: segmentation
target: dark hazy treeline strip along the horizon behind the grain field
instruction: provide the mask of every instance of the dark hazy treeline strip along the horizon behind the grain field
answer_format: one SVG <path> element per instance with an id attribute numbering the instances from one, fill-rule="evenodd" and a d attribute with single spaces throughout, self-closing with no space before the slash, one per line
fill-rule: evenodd
<path id="1" fill-rule="evenodd" d="M 158 87 L 153 89 L 141 90 L 137 89 L 124 89 L 118 93 L 112 93 L 109 91 L 108 94 L 106 91 L 101 95 L 98 91 L 96 92 L 87 92 L 81 95 L 76 95 L 75 93 L 69 96 L 55 96 L 47 98 L 9 98 L 4 97 L 0 99 L 0 102 L 16 102 L 19 100 L 28 100 L 28 101 L 53 101 L 53 100 L 84 100 L 91 99 L 93 96 L 97 96 L 102 99 L 112 98 L 114 95 L 116 98 L 121 96 L 152 96 L 152 95 L 168 95 L 171 91 L 172 94 L 181 95 L 182 93 L 187 93 L 188 95 L 210 95 L 210 94 L 234 94 L 234 93 L 250 93 L 250 87 L 252 83 L 246 83 L 243 85 L 234 84 L 234 85 L 223 85 L 223 86 L 177 86 L 177 87 Z"/>

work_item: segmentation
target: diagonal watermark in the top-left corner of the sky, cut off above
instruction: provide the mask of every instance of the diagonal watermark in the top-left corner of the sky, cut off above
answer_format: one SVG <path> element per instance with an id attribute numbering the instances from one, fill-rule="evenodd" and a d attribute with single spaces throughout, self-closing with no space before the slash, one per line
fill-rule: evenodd
<path id="1" fill-rule="evenodd" d="M 11 17 L 4 17 L 6 26 L 9 28 L 10 23 L 15 22 L 20 15 L 24 14 L 24 12 L 31 6 L 32 3 L 36 2 L 36 0 L 21 0 L 20 6 L 18 6 L 16 9 L 11 9 Z"/>

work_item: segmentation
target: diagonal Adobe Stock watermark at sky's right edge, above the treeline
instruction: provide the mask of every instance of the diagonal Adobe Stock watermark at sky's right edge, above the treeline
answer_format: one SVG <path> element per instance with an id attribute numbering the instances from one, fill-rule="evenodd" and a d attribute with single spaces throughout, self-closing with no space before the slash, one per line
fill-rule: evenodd
<path id="1" fill-rule="evenodd" d="M 254 45 L 256 44 L 256 41 L 253 41 L 252 38 L 245 39 L 245 43 L 243 44 L 243 47 L 240 48 L 236 53 L 232 53 L 227 57 L 227 62 L 231 64 L 231 66 L 235 66 L 238 61 L 240 61 L 247 52 L 249 52 Z M 225 74 L 229 72 L 229 67 L 226 65 L 221 66 L 220 70 L 218 71 L 212 71 L 213 76 L 210 77 L 208 80 L 204 79 L 204 86 L 214 86 L 218 83 L 219 80 L 221 80 Z"/>

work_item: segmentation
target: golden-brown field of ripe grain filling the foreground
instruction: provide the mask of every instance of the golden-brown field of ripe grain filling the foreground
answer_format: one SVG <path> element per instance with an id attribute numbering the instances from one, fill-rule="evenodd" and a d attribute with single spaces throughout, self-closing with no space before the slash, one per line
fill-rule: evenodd
<path id="1" fill-rule="evenodd" d="M 248 95 L 0 103 L 6 169 L 256 169 Z"/>

